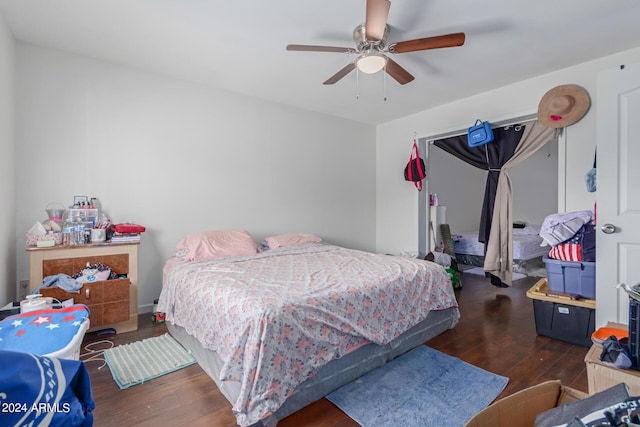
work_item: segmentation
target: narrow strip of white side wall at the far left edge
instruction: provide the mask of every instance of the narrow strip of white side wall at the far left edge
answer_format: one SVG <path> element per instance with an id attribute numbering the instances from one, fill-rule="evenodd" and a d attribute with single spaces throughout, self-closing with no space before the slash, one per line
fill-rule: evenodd
<path id="1" fill-rule="evenodd" d="M 16 274 L 14 41 L 0 15 L 0 305 L 13 301 Z"/>

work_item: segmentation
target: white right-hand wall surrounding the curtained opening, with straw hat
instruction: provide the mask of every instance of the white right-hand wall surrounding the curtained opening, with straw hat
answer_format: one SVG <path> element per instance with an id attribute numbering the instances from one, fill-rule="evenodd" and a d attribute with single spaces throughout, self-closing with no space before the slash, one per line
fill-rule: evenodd
<path id="1" fill-rule="evenodd" d="M 595 150 L 596 80 L 599 71 L 624 63 L 640 62 L 640 48 L 587 62 L 555 73 L 505 86 L 419 114 L 384 123 L 377 129 L 376 247 L 380 252 L 416 251 L 418 247 L 418 194 L 404 181 L 402 170 L 411 149 L 412 135 L 438 135 L 464 129 L 478 117 L 500 121 L 535 113 L 540 98 L 561 84 L 577 84 L 591 95 L 592 108 L 566 129 L 565 151 L 559 153 L 558 209 L 592 209 L 594 193 L 587 193 L 584 174 L 593 165 Z"/>

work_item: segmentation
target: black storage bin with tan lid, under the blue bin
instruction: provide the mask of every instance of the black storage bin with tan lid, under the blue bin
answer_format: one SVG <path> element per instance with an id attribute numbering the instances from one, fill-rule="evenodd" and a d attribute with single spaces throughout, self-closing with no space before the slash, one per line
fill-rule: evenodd
<path id="1" fill-rule="evenodd" d="M 592 308 L 533 300 L 536 332 L 582 347 L 591 347 L 596 315 Z"/>

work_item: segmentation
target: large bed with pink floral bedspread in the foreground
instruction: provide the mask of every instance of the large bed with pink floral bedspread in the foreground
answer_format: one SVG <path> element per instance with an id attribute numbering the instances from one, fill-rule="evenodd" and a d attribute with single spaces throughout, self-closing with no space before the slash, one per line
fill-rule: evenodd
<path id="1" fill-rule="evenodd" d="M 319 239 L 206 260 L 174 256 L 158 310 L 241 426 L 274 426 L 460 317 L 444 267 Z"/>

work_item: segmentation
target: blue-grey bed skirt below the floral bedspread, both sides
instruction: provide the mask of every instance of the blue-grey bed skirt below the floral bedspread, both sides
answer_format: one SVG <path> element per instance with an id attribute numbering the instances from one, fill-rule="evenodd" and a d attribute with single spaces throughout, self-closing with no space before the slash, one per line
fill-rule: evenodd
<path id="1" fill-rule="evenodd" d="M 387 345 L 368 344 L 340 359 L 331 361 L 320 368 L 314 377 L 298 385 L 284 404 L 269 418 L 263 420 L 262 425 L 275 426 L 279 420 L 321 399 L 344 384 L 451 329 L 458 318 L 457 308 L 433 310 L 424 321 Z M 213 379 L 220 392 L 233 404 L 239 395 L 240 383 L 219 380 L 218 374 L 222 368 L 222 360 L 218 355 L 202 347 L 200 342 L 189 335 L 184 328 L 171 323 L 167 323 L 167 328 L 169 333 L 191 352 L 202 369 Z M 256 424 L 256 427 L 258 425 L 260 424 Z"/>

